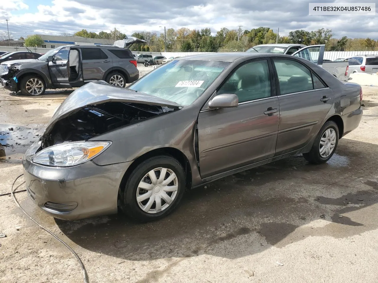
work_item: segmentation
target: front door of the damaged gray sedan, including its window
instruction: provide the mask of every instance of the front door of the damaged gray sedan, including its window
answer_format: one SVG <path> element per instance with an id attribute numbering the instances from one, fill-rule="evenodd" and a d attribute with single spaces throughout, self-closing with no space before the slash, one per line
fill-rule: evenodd
<path id="1" fill-rule="evenodd" d="M 236 94 L 239 105 L 206 109 L 198 115 L 202 178 L 274 156 L 279 102 L 271 74 L 268 60 L 239 65 L 217 90 L 217 95 Z"/>

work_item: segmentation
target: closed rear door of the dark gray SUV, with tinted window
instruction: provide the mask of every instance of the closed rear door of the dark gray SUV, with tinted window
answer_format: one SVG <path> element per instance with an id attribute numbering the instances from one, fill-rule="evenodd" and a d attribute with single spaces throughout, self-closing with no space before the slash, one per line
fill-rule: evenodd
<path id="1" fill-rule="evenodd" d="M 113 67 L 112 58 L 101 48 L 81 48 L 83 78 L 85 82 L 102 80 L 105 72 Z"/>

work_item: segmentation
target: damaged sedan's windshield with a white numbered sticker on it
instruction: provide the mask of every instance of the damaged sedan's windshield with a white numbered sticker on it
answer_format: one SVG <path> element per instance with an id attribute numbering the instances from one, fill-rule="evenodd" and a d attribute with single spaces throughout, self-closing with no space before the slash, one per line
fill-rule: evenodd
<path id="1" fill-rule="evenodd" d="M 172 60 L 143 76 L 129 89 L 190 105 L 214 82 L 229 62 Z"/>

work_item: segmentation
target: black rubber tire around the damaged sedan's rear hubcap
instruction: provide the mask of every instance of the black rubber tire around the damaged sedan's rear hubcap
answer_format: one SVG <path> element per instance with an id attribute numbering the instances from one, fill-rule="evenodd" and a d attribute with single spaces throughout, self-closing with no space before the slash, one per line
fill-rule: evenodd
<path id="1" fill-rule="evenodd" d="M 323 158 L 320 154 L 320 151 L 319 151 L 319 148 L 320 148 L 320 140 L 322 138 L 322 136 L 324 135 L 325 131 L 327 131 L 328 129 L 333 129 L 335 130 L 336 132 L 336 142 L 335 142 L 335 147 L 333 148 L 332 152 L 330 155 L 328 155 L 327 157 Z M 336 151 L 336 148 L 337 148 L 337 145 L 339 143 L 339 128 L 337 126 L 337 124 L 333 121 L 328 121 L 326 122 L 322 128 L 320 129 L 318 135 L 316 135 L 316 138 L 314 140 L 314 144 L 310 150 L 310 152 L 307 152 L 307 153 L 304 153 L 303 154 L 303 157 L 311 164 L 321 164 L 321 163 L 325 163 L 327 162 L 328 160 L 330 160 L 330 158 L 332 157 L 332 155 L 335 153 Z"/>

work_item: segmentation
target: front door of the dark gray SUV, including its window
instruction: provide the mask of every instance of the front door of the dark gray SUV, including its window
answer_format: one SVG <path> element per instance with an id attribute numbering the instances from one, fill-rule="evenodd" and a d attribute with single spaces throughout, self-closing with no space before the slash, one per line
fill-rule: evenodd
<path id="1" fill-rule="evenodd" d="M 69 47 L 60 49 L 53 57 L 53 61 L 48 62 L 51 82 L 54 85 L 68 85 L 68 54 Z"/>

